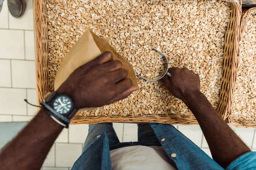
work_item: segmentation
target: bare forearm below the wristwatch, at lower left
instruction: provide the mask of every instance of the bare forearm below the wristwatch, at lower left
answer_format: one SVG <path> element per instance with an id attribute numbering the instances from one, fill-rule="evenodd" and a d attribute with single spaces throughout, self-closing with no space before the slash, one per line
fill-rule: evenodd
<path id="1" fill-rule="evenodd" d="M 63 126 L 42 109 L 0 153 L 1 170 L 39 170 Z"/>

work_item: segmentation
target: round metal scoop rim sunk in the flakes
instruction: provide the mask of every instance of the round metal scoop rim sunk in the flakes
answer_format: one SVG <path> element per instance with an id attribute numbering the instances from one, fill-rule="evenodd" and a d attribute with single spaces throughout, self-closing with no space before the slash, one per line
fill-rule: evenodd
<path id="1" fill-rule="evenodd" d="M 168 71 L 168 60 L 167 60 L 166 55 L 163 54 L 162 52 L 158 51 L 156 48 L 153 48 L 153 47 L 151 47 L 151 46 L 149 46 L 149 47 L 152 48 L 154 51 L 157 51 L 157 52 L 159 53 L 159 55 L 161 55 L 161 56 L 163 57 L 164 70 L 163 70 L 161 73 L 159 73 L 158 76 L 153 77 L 153 78 L 142 77 L 142 76 L 140 76 L 140 75 L 138 75 L 138 74 L 137 74 L 137 76 L 139 76 L 139 77 L 141 77 L 141 78 L 143 78 L 143 79 L 145 79 L 145 80 L 148 80 L 148 81 L 157 81 L 157 80 L 162 79 L 164 76 L 172 77 L 172 76 L 171 76 L 171 73 L 169 73 L 169 71 Z"/>

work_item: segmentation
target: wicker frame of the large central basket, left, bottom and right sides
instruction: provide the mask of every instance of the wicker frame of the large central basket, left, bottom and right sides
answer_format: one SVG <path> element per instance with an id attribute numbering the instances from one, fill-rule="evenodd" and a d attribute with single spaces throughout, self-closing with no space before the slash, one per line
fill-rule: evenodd
<path id="1" fill-rule="evenodd" d="M 35 47 L 36 47 L 36 85 L 37 102 L 49 91 L 48 85 L 48 31 L 47 31 L 47 0 L 34 1 Z M 239 23 L 241 4 L 230 3 L 232 14 L 225 33 L 223 70 L 218 113 L 225 120 L 231 111 L 234 82 L 236 82 L 236 67 L 238 55 Z M 235 50 L 234 50 L 235 49 Z M 234 60 L 236 59 L 236 60 Z M 157 122 L 168 124 L 196 125 L 193 115 L 145 115 L 145 116 L 74 116 L 73 124 L 96 124 L 102 122 Z"/>

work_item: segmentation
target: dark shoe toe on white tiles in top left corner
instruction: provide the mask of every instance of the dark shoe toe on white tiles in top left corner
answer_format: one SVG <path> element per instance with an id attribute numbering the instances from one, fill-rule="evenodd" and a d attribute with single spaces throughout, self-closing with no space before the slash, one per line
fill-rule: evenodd
<path id="1" fill-rule="evenodd" d="M 25 0 L 8 0 L 8 8 L 13 17 L 21 17 L 26 10 Z"/>

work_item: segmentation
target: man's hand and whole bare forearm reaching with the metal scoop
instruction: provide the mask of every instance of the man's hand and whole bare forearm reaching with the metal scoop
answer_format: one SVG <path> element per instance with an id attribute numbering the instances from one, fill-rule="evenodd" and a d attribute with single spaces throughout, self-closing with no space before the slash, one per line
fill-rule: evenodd
<path id="1" fill-rule="evenodd" d="M 163 77 L 163 84 L 173 96 L 181 99 L 192 111 L 207 140 L 212 158 L 226 168 L 250 149 L 222 120 L 206 96 L 200 92 L 198 74 L 187 68 L 170 68 L 172 78 Z"/>

